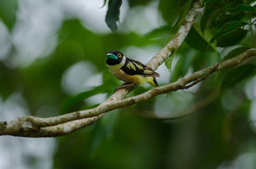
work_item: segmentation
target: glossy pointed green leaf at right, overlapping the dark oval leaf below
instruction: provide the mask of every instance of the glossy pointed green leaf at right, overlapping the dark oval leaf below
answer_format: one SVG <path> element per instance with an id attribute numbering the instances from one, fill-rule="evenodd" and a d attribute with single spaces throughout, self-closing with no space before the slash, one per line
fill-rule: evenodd
<path id="1" fill-rule="evenodd" d="M 239 21 L 231 21 L 229 23 L 226 23 L 225 25 L 222 26 L 222 29 L 218 30 L 214 34 L 214 37 L 211 38 L 210 43 L 214 43 L 214 41 L 224 35 L 227 35 L 229 33 L 234 32 L 236 29 L 241 28 L 242 26 L 248 25 L 248 23 L 245 22 L 239 22 Z"/>

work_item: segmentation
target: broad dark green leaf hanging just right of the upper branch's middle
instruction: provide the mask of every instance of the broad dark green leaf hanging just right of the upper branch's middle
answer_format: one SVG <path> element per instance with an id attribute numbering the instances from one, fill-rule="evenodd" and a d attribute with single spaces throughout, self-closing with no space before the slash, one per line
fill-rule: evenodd
<path id="1" fill-rule="evenodd" d="M 214 52 L 216 51 L 215 47 L 208 45 L 211 36 L 212 35 L 210 32 L 206 32 L 206 36 L 204 37 L 200 30 L 200 25 L 198 23 L 194 23 L 193 27 L 189 30 L 189 33 L 185 38 L 185 42 L 196 50 L 203 52 Z"/>

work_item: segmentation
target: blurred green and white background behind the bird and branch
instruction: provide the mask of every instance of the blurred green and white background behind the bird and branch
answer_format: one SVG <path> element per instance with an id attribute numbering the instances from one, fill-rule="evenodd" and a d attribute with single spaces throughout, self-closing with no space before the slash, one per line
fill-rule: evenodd
<path id="1" fill-rule="evenodd" d="M 0 121 L 53 117 L 102 103 L 122 84 L 107 69 L 106 52 L 119 50 L 146 64 L 170 40 L 171 25 L 191 1 L 124 0 L 114 33 L 103 4 L 0 1 Z M 222 21 L 212 22 L 212 32 Z M 218 63 L 238 47 L 253 47 L 251 33 L 209 52 L 195 49 L 196 39 L 188 38 L 156 70 L 160 86 Z M 109 112 L 67 136 L 1 136 L 0 168 L 256 168 L 255 69 L 239 83 L 228 80 L 228 70 L 214 73 L 167 98 Z M 127 97 L 151 88 L 139 86 Z"/>

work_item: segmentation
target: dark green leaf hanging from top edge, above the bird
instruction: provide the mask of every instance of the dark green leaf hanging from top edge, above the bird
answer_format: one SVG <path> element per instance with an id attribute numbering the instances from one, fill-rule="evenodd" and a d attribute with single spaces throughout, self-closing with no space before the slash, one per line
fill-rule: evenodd
<path id="1" fill-rule="evenodd" d="M 120 15 L 120 7 L 122 5 L 122 0 L 109 0 L 109 9 L 107 10 L 106 14 L 106 24 L 115 32 L 118 30 L 118 26 L 116 25 L 117 21 L 119 21 Z"/>

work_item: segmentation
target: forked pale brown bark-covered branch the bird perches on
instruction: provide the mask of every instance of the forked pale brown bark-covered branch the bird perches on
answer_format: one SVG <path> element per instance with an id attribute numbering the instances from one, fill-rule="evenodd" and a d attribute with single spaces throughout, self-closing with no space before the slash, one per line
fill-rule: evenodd
<path id="1" fill-rule="evenodd" d="M 153 70 L 157 69 L 167 57 L 170 57 L 177 50 L 192 27 L 193 21 L 197 16 L 197 8 L 200 7 L 201 3 L 199 3 L 199 1 L 193 3 L 188 14 L 185 16 L 184 23 L 180 26 L 175 37 L 173 37 L 173 39 L 146 64 L 147 66 L 150 66 Z M 13 119 L 12 121 L 0 122 L 0 135 L 23 137 L 57 137 L 67 135 L 80 128 L 93 124 L 110 110 L 140 103 L 163 93 L 192 87 L 194 84 L 205 79 L 207 75 L 224 68 L 238 65 L 245 59 L 254 55 L 256 55 L 256 48 L 248 50 L 232 59 L 199 70 L 198 72 L 188 75 L 174 83 L 153 88 L 144 94 L 129 97 L 127 99 L 124 99 L 124 97 L 136 87 L 122 88 L 116 91 L 101 105 L 93 109 L 68 113 L 51 118 L 25 116 Z"/>

